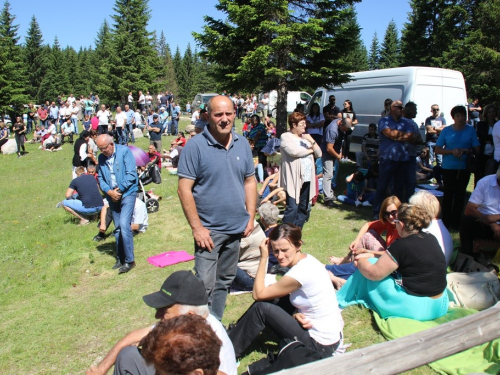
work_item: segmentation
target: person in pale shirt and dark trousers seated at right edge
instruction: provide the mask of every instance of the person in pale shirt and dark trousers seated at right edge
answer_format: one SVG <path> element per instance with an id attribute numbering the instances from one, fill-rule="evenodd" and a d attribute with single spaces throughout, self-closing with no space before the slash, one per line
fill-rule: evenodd
<path id="1" fill-rule="evenodd" d="M 460 252 L 472 255 L 476 239 L 500 243 L 500 168 L 478 181 L 465 207 L 460 223 Z"/>

